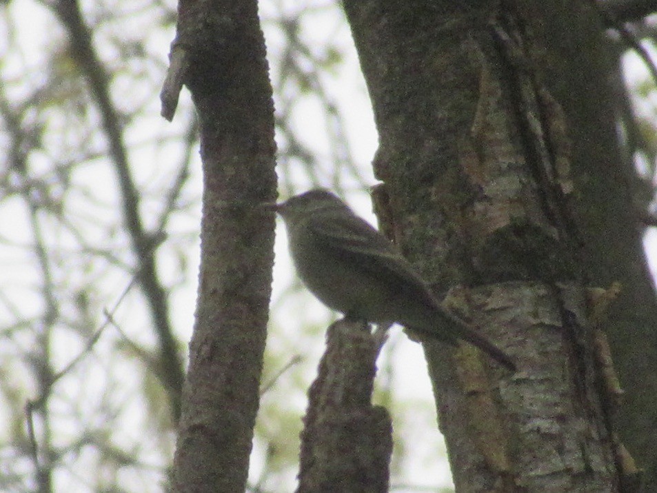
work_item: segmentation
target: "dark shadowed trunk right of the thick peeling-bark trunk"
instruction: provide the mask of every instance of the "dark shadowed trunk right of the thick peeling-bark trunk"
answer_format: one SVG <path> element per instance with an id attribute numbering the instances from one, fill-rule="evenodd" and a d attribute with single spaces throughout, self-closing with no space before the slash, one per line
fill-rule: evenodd
<path id="1" fill-rule="evenodd" d="M 573 202 L 583 232 L 590 285 L 620 292 L 601 327 L 624 396 L 618 431 L 644 467 L 646 492 L 657 491 L 657 303 L 645 263 L 631 174 L 618 152 L 614 98 L 609 91 L 609 52 L 592 4 L 526 2 L 523 12 L 539 50 L 536 63 L 562 105 L 572 139 Z M 618 61 L 616 61 L 618 63 Z"/>

